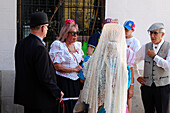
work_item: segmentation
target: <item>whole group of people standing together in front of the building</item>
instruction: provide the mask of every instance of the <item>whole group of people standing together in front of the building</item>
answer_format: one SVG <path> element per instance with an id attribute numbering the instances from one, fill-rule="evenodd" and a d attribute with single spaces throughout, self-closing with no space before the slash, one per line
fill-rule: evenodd
<path id="1" fill-rule="evenodd" d="M 151 42 L 141 47 L 132 20 L 120 25 L 107 18 L 89 38 L 87 53 L 73 19 L 65 20 L 48 52 L 43 41 L 48 25 L 46 13 L 31 14 L 30 35 L 16 44 L 14 103 L 24 113 L 131 113 L 134 78 L 145 113 L 169 113 L 170 43 L 163 23 L 149 27 Z"/>

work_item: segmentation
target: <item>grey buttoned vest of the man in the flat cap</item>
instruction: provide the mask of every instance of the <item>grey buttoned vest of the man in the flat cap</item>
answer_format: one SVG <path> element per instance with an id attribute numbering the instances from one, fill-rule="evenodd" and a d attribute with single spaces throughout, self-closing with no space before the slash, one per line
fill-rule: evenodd
<path id="1" fill-rule="evenodd" d="M 153 49 L 152 42 L 145 45 L 145 63 L 144 63 L 144 78 L 147 86 L 151 86 L 154 82 L 156 86 L 165 86 L 170 84 L 170 71 L 165 71 L 163 68 L 158 67 L 156 62 L 149 57 L 146 52 L 148 49 Z M 157 55 L 166 58 L 168 50 L 170 49 L 170 43 L 164 41 L 160 47 Z"/>

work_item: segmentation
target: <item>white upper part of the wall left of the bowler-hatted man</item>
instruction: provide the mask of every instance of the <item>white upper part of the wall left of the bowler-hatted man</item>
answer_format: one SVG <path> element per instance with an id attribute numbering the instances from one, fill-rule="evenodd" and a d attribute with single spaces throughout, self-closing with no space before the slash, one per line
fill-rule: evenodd
<path id="1" fill-rule="evenodd" d="M 14 70 L 16 6 L 17 0 L 3 0 L 0 3 L 0 70 Z"/>

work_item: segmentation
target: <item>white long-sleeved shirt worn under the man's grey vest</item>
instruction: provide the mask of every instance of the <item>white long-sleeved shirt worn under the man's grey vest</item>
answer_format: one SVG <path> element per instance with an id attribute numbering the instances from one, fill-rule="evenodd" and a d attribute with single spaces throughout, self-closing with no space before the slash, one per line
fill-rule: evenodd
<path id="1" fill-rule="evenodd" d="M 163 42 L 164 42 L 164 40 L 162 39 L 162 41 L 158 45 L 153 44 L 153 50 L 155 51 L 155 54 L 158 53 Z M 135 54 L 135 58 L 136 59 L 135 59 L 135 64 L 134 64 L 134 73 L 135 73 L 136 77 L 138 78 L 140 76 L 140 74 L 138 72 L 137 64 L 140 61 L 145 59 L 145 44 Z M 158 67 L 163 68 L 165 71 L 170 71 L 170 49 L 168 50 L 166 59 L 163 59 L 162 57 L 156 55 L 153 60 L 156 62 L 156 65 Z"/>

